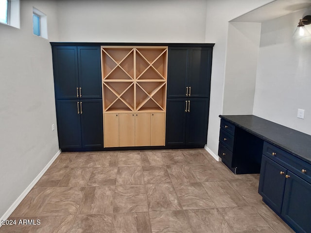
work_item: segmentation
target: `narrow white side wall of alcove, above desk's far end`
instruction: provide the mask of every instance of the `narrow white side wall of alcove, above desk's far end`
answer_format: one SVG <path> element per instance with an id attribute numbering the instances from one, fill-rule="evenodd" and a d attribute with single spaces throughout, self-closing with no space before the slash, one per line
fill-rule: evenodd
<path id="1" fill-rule="evenodd" d="M 253 114 L 260 27 L 260 23 L 229 23 L 223 115 Z"/>

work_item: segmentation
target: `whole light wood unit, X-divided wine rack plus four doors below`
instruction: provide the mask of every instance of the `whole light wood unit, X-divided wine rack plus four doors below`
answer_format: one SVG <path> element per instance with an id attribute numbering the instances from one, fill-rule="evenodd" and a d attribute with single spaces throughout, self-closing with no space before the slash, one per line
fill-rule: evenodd
<path id="1" fill-rule="evenodd" d="M 101 49 L 104 147 L 164 146 L 168 48 Z"/>

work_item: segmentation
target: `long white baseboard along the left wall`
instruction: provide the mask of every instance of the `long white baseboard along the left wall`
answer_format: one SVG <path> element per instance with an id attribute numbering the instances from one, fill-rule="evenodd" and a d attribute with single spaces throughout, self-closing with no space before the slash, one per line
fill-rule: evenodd
<path id="1" fill-rule="evenodd" d="M 30 192 L 30 190 L 35 186 L 35 184 L 40 180 L 40 178 L 43 176 L 43 174 L 48 170 L 48 168 L 52 165 L 52 163 L 55 161 L 55 159 L 60 155 L 61 150 L 58 150 L 56 154 L 53 156 L 53 158 L 50 160 L 50 162 L 42 169 L 42 171 L 35 177 L 35 179 L 28 185 L 28 187 L 19 195 L 17 200 L 13 202 L 13 204 L 10 206 L 10 208 L 4 213 L 3 216 L 0 218 L 0 222 L 2 220 L 6 220 L 13 211 L 17 208 L 19 203 L 26 197 L 26 195 Z M 0 224 L 1 227 L 1 224 Z"/>

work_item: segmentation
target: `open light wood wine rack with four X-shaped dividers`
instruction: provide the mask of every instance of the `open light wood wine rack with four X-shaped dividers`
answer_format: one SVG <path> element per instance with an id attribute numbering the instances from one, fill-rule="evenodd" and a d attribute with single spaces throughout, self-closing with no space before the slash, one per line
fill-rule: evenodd
<path id="1" fill-rule="evenodd" d="M 102 47 L 104 112 L 165 112 L 167 47 Z"/>

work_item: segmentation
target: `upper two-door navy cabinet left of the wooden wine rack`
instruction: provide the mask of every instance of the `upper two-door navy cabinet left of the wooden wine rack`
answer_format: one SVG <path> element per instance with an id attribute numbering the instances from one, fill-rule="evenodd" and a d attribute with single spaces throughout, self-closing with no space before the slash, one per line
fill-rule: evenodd
<path id="1" fill-rule="evenodd" d="M 99 46 L 54 46 L 53 70 L 56 99 L 100 99 Z"/>

